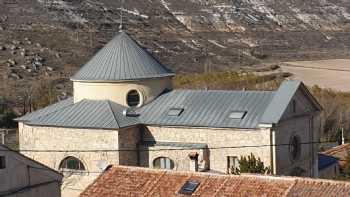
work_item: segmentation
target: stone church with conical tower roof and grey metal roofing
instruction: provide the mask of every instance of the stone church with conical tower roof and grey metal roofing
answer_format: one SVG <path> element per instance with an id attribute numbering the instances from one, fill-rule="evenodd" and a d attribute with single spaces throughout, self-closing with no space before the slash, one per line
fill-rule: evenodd
<path id="1" fill-rule="evenodd" d="M 84 189 L 108 165 L 229 173 L 253 153 L 272 174 L 317 177 L 319 103 L 276 91 L 173 90 L 174 73 L 121 32 L 72 78 L 72 98 L 18 118 L 20 150 Z"/>

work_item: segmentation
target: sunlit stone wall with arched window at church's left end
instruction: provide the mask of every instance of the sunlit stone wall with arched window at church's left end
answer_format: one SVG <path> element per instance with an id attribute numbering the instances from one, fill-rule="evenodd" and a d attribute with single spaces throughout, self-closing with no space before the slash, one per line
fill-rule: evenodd
<path id="1" fill-rule="evenodd" d="M 84 164 L 85 172 L 65 174 L 62 185 L 63 197 L 78 196 L 102 171 L 99 167 L 101 163 L 119 164 L 118 152 L 87 151 L 116 150 L 119 148 L 118 140 L 117 130 L 37 127 L 19 123 L 21 153 L 56 170 L 59 169 L 60 162 L 68 156 L 74 156 Z M 70 152 L 71 150 L 83 150 L 83 152 Z"/>

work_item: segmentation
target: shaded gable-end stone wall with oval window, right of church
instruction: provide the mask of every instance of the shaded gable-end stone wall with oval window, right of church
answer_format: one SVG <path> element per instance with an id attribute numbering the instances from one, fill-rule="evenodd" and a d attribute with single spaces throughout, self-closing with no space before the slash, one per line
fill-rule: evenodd
<path id="1" fill-rule="evenodd" d="M 305 93 L 298 90 L 275 128 L 276 144 L 284 145 L 276 147 L 277 174 L 292 175 L 296 168 L 301 168 L 305 170 L 302 176 L 317 176 L 317 144 L 310 143 L 319 141 L 320 123 L 314 110 Z M 302 143 L 300 157 L 295 161 L 288 146 L 293 135 L 299 136 Z"/>

